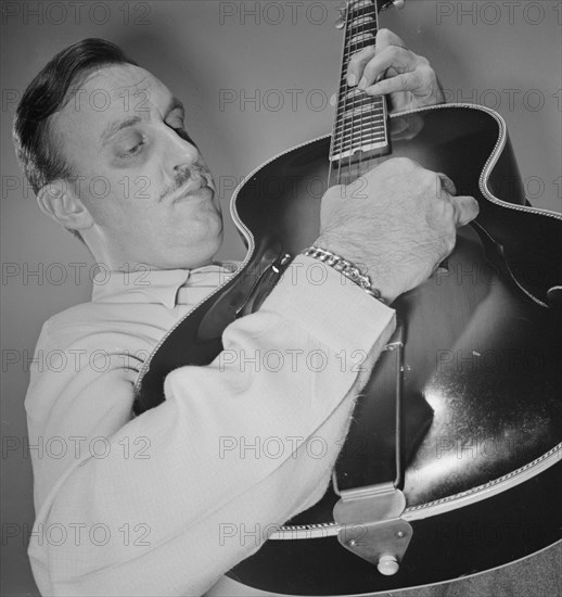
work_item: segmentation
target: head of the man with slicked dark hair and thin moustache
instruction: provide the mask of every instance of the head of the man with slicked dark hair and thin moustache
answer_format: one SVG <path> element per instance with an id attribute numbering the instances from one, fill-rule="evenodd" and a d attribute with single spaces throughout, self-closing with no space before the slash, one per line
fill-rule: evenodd
<path id="1" fill-rule="evenodd" d="M 41 209 L 111 268 L 208 264 L 222 239 L 214 182 L 181 103 L 113 43 L 60 52 L 17 107 L 17 155 Z"/>

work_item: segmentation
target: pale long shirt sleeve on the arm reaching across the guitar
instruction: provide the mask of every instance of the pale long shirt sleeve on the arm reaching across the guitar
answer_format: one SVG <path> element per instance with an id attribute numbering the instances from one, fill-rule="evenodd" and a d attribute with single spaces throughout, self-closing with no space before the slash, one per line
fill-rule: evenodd
<path id="1" fill-rule="evenodd" d="M 123 360 L 35 371 L 30 439 L 89 446 L 79 458 L 34 457 L 29 556 L 41 593 L 204 593 L 323 495 L 394 326 L 392 309 L 297 257 L 259 312 L 226 329 L 222 353 L 169 373 L 166 401 L 136 419 Z M 30 407 L 39 396 L 44 422 Z"/>

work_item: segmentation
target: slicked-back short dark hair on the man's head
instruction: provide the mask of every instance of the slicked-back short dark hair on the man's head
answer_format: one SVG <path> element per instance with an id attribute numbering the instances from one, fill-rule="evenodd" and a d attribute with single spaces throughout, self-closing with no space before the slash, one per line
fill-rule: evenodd
<path id="1" fill-rule="evenodd" d="M 71 87 L 108 64 L 133 64 L 123 50 L 104 39 L 82 39 L 59 52 L 27 86 L 15 113 L 13 139 L 20 164 L 37 193 L 44 185 L 76 177 L 63 158 L 49 118 L 71 99 Z"/>

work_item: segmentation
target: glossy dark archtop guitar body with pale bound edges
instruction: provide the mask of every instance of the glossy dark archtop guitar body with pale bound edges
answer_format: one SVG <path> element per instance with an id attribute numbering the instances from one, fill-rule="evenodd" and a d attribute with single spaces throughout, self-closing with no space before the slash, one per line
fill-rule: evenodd
<path id="1" fill-rule="evenodd" d="M 411 542 L 399 571 L 383 576 L 339 543 L 339 496 L 330 487 L 213 594 L 384 593 L 489 570 L 560 538 L 562 216 L 525 204 L 503 120 L 493 111 L 433 106 L 391 123 L 393 157 L 446 174 L 481 207 L 439 270 L 393 304 L 405 334 L 401 518 Z M 255 290 L 256 272 L 316 240 L 329 149 L 324 137 L 283 153 L 237 190 L 232 215 L 248 254 L 148 361 L 139 410 L 162 402 L 171 369 L 220 352 L 221 331 Z M 358 404 L 339 461 L 354 479 L 392 470 L 380 430 L 392 419 L 393 367 L 381 358 Z"/>

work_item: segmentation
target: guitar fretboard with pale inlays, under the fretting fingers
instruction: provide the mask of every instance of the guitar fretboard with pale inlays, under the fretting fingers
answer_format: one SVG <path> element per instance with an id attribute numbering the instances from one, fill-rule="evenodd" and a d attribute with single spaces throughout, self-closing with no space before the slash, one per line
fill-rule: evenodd
<path id="1" fill-rule="evenodd" d="M 332 131 L 332 165 L 352 165 L 361 154 L 380 154 L 388 150 L 386 101 L 347 85 L 347 67 L 353 54 L 373 46 L 379 30 L 376 2 L 349 0 L 345 13 L 345 39 L 337 93 L 337 109 Z"/>

